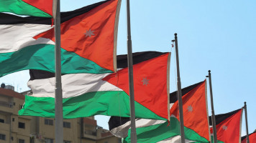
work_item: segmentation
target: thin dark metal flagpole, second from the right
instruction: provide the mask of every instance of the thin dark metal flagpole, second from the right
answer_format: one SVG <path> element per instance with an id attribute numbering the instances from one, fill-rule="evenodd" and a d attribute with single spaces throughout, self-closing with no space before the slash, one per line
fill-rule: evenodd
<path id="1" fill-rule="evenodd" d="M 217 143 L 217 134 L 216 134 L 216 121 L 215 121 L 215 114 L 214 114 L 214 98 L 212 94 L 212 88 L 211 88 L 211 70 L 209 72 L 209 86 L 210 86 L 210 96 L 211 96 L 211 123 L 212 123 L 212 129 L 214 132 L 214 143 Z"/>

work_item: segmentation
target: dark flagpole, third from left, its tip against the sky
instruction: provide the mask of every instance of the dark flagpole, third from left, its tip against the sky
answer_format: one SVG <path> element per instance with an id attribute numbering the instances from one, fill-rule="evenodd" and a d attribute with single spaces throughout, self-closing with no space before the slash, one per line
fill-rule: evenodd
<path id="1" fill-rule="evenodd" d="M 176 53 L 176 64 L 177 64 L 177 87 L 178 87 L 178 110 L 180 114 L 180 139 L 181 143 L 185 143 L 185 133 L 184 133 L 184 123 L 183 123 L 183 104 L 182 104 L 182 93 L 181 93 L 181 83 L 180 83 L 180 64 L 178 59 L 178 38 L 177 34 L 175 36 L 175 53 Z"/>

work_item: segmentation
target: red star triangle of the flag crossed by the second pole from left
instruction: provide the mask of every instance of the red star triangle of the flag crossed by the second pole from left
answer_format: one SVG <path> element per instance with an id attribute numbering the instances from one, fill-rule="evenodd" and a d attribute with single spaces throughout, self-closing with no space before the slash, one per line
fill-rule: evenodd
<path id="1" fill-rule="evenodd" d="M 160 117 L 168 119 L 168 54 L 134 64 L 134 99 Z M 129 95 L 128 69 L 103 79 Z"/>

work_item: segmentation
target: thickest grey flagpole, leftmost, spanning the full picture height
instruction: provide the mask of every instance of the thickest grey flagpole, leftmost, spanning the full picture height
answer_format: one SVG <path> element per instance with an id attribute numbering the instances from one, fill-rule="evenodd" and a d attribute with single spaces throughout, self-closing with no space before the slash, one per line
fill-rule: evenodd
<path id="1" fill-rule="evenodd" d="M 61 87 L 60 0 L 55 0 L 55 142 L 63 143 L 63 94 Z"/>

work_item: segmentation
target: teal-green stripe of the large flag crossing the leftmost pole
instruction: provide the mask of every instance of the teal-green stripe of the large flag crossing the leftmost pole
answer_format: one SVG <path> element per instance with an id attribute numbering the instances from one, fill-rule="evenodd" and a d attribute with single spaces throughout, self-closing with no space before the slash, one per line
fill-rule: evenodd
<path id="1" fill-rule="evenodd" d="M 52 44 L 27 46 L 19 51 L 0 53 L 0 77 L 25 69 L 41 69 L 55 72 L 55 51 Z M 111 73 L 91 60 L 84 59 L 76 53 L 61 49 L 62 73 Z"/>

